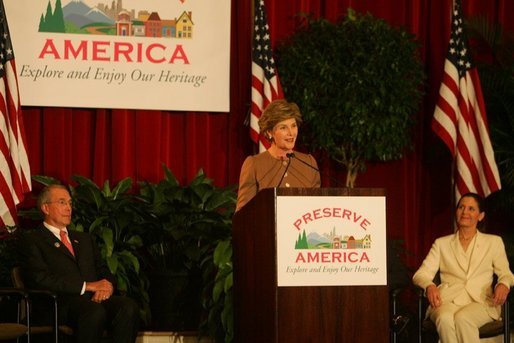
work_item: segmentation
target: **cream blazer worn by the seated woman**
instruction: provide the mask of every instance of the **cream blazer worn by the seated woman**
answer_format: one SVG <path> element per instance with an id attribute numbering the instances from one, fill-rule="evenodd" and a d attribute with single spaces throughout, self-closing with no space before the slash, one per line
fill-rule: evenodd
<path id="1" fill-rule="evenodd" d="M 492 298 L 493 275 L 498 283 L 507 287 L 514 285 L 514 275 L 509 269 L 509 261 L 501 237 L 478 232 L 468 263 L 462 254 L 458 233 L 435 240 L 430 252 L 421 267 L 412 277 L 415 285 L 426 289 L 434 284 L 433 280 L 439 271 L 441 283 L 438 285 L 443 303 L 472 301 L 484 304 L 489 315 L 498 319 L 501 313 L 499 306 L 490 306 Z M 428 314 L 430 313 L 428 309 Z"/>

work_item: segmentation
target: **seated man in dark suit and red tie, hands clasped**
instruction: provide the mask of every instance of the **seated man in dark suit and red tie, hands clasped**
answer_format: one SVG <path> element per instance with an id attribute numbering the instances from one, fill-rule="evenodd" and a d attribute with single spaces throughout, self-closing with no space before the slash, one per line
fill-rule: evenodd
<path id="1" fill-rule="evenodd" d="M 114 295 L 114 276 L 87 233 L 70 231 L 72 201 L 66 187 L 43 189 L 38 206 L 44 222 L 20 237 L 19 262 L 27 287 L 59 294 L 61 324 L 72 327 L 77 342 L 99 342 L 109 329 L 116 343 L 133 343 L 139 309 Z"/>

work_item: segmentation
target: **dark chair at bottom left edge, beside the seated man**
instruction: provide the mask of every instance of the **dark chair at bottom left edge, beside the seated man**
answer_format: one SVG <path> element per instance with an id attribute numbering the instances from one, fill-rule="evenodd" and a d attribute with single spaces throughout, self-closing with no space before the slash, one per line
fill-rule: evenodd
<path id="1" fill-rule="evenodd" d="M 2 300 L 4 298 L 9 298 L 9 300 L 12 299 L 16 302 L 16 313 L 13 313 L 8 318 L 8 320 L 16 319 L 16 322 L 0 321 L 0 341 L 18 339 L 19 337 L 24 335 L 29 336 L 28 327 L 27 325 L 21 323 L 20 317 L 22 307 L 28 306 L 28 302 L 26 301 L 27 297 L 27 293 L 22 290 L 14 288 L 0 288 L 0 298 Z M 3 311 L 5 311 L 5 309 Z M 3 314 L 5 313 L 3 312 Z M 3 318 L 3 320 L 6 319 L 7 318 Z M 27 338 L 27 341 L 30 342 L 30 338 Z"/>

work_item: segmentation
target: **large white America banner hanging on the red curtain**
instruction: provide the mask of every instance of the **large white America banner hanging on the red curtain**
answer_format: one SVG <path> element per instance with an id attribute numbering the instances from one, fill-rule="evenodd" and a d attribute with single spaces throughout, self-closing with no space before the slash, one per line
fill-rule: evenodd
<path id="1" fill-rule="evenodd" d="M 4 0 L 25 106 L 229 111 L 230 0 Z"/>

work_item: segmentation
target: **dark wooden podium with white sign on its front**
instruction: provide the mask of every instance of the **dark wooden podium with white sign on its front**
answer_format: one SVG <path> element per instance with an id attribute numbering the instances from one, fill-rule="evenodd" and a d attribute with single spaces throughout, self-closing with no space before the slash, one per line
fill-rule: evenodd
<path id="1" fill-rule="evenodd" d="M 257 193 L 232 218 L 234 342 L 389 342 L 385 203 L 371 188 Z"/>

